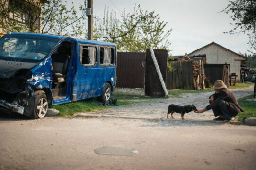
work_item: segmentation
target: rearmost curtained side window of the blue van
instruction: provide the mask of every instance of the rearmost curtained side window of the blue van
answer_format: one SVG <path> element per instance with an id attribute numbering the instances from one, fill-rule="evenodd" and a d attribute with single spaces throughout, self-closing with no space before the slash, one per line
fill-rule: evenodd
<path id="1" fill-rule="evenodd" d="M 101 47 L 99 51 L 100 64 L 114 64 L 114 49 Z"/>

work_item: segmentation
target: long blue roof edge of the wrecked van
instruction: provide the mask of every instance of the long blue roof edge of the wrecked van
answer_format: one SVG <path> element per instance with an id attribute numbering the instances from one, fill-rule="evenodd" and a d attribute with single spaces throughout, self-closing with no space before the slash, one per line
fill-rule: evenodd
<path id="1" fill-rule="evenodd" d="M 9 34 L 12 34 L 12 35 L 13 34 L 17 34 L 17 35 L 33 35 L 33 36 L 49 37 L 49 38 L 56 38 L 56 39 L 68 38 L 68 37 L 64 37 L 64 36 L 50 35 L 50 34 L 40 34 L 40 33 L 10 32 Z M 95 44 L 95 45 L 104 45 L 104 46 L 116 46 L 116 44 L 112 43 L 112 42 L 102 42 L 102 41 L 85 40 L 85 39 L 78 39 L 78 38 L 73 38 L 73 39 L 77 40 L 81 44 L 86 43 L 86 44 Z"/>

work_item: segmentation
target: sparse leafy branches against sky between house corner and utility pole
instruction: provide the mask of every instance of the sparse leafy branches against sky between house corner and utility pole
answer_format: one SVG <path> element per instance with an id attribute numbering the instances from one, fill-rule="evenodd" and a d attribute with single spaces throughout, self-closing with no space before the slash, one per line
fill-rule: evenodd
<path id="1" fill-rule="evenodd" d="M 85 30 L 85 7 L 86 4 L 84 2 L 79 7 L 82 13 L 77 16 L 73 2 L 71 8 L 67 8 L 66 0 L 48 0 L 43 7 L 41 33 L 74 37 L 82 36 L 83 30 Z"/>

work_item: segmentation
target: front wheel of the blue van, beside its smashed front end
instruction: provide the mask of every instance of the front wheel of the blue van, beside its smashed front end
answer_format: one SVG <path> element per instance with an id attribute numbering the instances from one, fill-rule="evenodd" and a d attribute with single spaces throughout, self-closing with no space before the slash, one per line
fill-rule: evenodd
<path id="1" fill-rule="evenodd" d="M 35 103 L 33 113 L 31 114 L 32 119 L 43 118 L 48 109 L 47 97 L 44 93 L 35 94 Z"/>

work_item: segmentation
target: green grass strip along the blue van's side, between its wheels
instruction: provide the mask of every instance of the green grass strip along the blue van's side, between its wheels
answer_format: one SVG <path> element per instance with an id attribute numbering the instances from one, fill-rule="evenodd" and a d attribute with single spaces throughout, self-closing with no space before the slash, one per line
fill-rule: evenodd
<path id="1" fill-rule="evenodd" d="M 115 105 L 110 106 L 131 105 L 134 103 L 136 102 L 118 100 Z M 97 100 L 97 98 L 91 98 L 63 105 L 52 105 L 50 108 L 59 110 L 60 112 L 58 113 L 58 116 L 73 116 L 75 113 L 79 112 L 93 112 L 95 110 L 103 110 L 109 108 L 109 106 L 100 106 L 98 104 L 99 101 Z"/>

